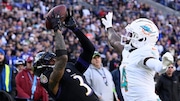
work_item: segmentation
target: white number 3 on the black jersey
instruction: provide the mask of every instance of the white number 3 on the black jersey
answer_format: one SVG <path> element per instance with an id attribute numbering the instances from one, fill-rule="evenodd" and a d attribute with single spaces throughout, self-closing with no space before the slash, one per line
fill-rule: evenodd
<path id="1" fill-rule="evenodd" d="M 73 79 L 78 79 L 80 81 L 79 85 L 87 89 L 86 96 L 89 96 L 92 93 L 92 89 L 86 83 L 84 83 L 84 80 L 81 76 L 75 75 L 73 76 Z"/>

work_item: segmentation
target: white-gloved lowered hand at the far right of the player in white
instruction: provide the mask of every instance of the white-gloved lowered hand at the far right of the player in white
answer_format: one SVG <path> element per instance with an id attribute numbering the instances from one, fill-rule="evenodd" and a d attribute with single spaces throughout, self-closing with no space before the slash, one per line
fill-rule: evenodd
<path id="1" fill-rule="evenodd" d="M 169 52 L 166 52 L 162 56 L 163 67 L 168 67 L 170 64 L 173 64 L 173 63 L 174 63 L 174 58 L 173 58 L 172 54 Z"/>

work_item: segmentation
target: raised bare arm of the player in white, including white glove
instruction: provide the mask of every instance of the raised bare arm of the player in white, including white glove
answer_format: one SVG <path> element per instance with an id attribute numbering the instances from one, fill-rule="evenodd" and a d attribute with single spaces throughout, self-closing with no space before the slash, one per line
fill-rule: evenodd
<path id="1" fill-rule="evenodd" d="M 105 26 L 105 30 L 108 33 L 108 41 L 110 43 L 110 45 L 114 48 L 114 50 L 121 55 L 122 50 L 124 48 L 123 45 L 121 45 L 121 37 L 119 35 L 117 35 L 117 33 L 115 32 L 115 30 L 112 27 L 112 16 L 113 13 L 109 12 L 105 18 L 102 18 L 102 23 Z"/>

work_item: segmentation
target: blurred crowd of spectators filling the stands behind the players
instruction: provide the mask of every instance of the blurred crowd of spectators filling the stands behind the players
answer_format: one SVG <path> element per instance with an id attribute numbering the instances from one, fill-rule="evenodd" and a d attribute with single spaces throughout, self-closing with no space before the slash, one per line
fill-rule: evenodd
<path id="1" fill-rule="evenodd" d="M 180 57 L 180 17 L 162 15 L 147 4 L 126 0 L 2 0 L 0 5 L 0 47 L 6 51 L 7 63 L 14 66 L 18 58 L 26 59 L 41 50 L 54 51 L 53 34 L 45 27 L 45 15 L 55 5 L 66 4 L 73 10 L 79 27 L 91 39 L 103 57 L 104 66 L 120 61 L 120 56 L 108 45 L 107 35 L 100 18 L 113 11 L 113 27 L 125 33 L 124 27 L 139 17 L 154 21 L 160 30 L 157 48 L 160 55 L 170 51 Z M 67 29 L 63 30 L 69 61 L 82 51 L 78 39 Z M 114 64 L 113 66 L 118 65 Z"/>

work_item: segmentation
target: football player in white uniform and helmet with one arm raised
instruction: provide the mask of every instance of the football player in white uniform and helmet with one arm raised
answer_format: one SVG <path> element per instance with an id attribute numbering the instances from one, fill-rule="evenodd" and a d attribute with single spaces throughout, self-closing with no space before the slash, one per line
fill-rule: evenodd
<path id="1" fill-rule="evenodd" d="M 158 101 L 155 94 L 154 75 L 164 73 L 174 62 L 167 52 L 159 60 L 155 44 L 159 37 L 157 26 L 149 19 L 139 18 L 128 24 L 126 35 L 117 35 L 112 27 L 113 13 L 109 12 L 102 23 L 108 33 L 111 46 L 123 60 L 120 66 L 121 91 L 125 101 Z"/>

